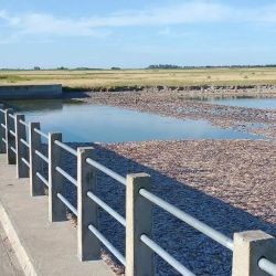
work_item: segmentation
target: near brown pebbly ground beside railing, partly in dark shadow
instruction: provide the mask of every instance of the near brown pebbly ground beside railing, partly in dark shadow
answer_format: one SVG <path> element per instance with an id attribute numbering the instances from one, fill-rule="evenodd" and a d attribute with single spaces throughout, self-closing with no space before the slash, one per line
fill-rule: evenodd
<path id="1" fill-rule="evenodd" d="M 71 144 L 72 147 L 87 146 Z M 96 159 L 121 176 L 147 172 L 152 192 L 232 237 L 234 232 L 263 230 L 276 236 L 276 144 L 265 140 L 147 141 L 94 145 Z M 76 177 L 76 160 L 66 155 L 66 171 Z M 97 194 L 125 215 L 125 188 L 98 173 Z M 67 183 L 75 204 L 76 189 Z M 125 254 L 125 230 L 100 212 L 100 231 Z M 195 275 L 231 275 L 232 253 L 153 209 L 153 240 Z M 103 254 L 118 275 L 123 267 Z M 179 275 L 156 256 L 157 275 Z"/>

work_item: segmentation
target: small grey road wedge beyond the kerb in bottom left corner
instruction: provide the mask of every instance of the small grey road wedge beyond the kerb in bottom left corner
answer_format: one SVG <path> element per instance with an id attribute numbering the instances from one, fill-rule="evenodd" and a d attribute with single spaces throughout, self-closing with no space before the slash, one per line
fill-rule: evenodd
<path id="1" fill-rule="evenodd" d="M 2 225 L 0 224 L 0 274 L 3 276 L 23 276 L 23 270 L 17 259 Z"/>

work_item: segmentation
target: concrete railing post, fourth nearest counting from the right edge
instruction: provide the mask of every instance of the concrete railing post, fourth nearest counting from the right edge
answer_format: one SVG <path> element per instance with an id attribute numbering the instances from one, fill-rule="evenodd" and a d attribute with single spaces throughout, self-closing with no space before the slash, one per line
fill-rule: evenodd
<path id="1" fill-rule="evenodd" d="M 62 141 L 62 134 L 49 134 L 49 220 L 50 222 L 66 221 L 66 206 L 57 198 L 57 193 L 64 194 L 64 178 L 56 171 L 62 167 L 62 149 L 55 145 L 55 140 Z"/>

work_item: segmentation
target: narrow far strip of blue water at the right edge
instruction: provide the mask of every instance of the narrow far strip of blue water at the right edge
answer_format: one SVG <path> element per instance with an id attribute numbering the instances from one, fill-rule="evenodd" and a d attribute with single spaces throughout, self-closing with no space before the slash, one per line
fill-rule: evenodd
<path id="1" fill-rule="evenodd" d="M 212 99 L 209 102 L 219 105 L 276 109 L 276 98 L 224 98 L 224 99 Z"/>

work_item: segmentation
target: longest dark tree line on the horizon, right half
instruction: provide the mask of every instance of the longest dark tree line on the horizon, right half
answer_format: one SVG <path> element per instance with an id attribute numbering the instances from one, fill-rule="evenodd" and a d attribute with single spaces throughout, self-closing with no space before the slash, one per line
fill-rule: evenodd
<path id="1" fill-rule="evenodd" d="M 179 66 L 173 64 L 152 64 L 146 67 L 146 70 L 170 70 L 170 68 L 255 68 L 255 67 L 276 67 L 276 64 L 265 64 L 265 65 L 221 65 L 221 66 Z"/>

